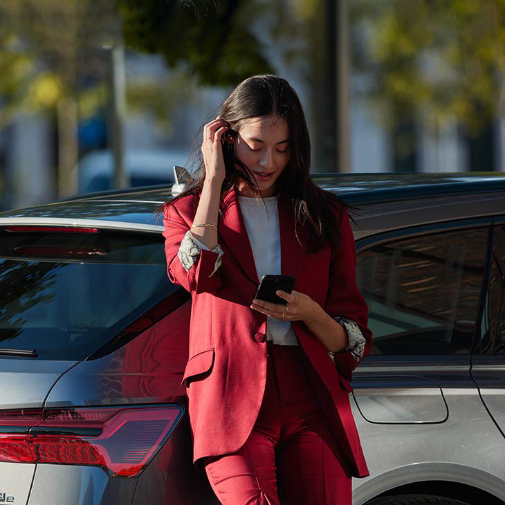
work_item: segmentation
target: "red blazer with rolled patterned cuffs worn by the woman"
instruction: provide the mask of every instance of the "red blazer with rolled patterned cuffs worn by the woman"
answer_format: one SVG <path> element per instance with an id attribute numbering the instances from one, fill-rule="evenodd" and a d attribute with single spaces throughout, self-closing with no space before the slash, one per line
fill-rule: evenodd
<path id="1" fill-rule="evenodd" d="M 221 267 L 214 275 L 217 253 L 202 250 L 188 272 L 177 257 L 192 225 L 198 195 L 178 199 L 165 210 L 165 255 L 170 280 L 192 294 L 190 353 L 185 367 L 194 461 L 238 450 L 254 425 L 266 382 L 266 315 L 250 309 L 259 280 L 236 190 L 223 198 L 218 240 Z M 317 249 L 309 235 L 295 237 L 293 205 L 279 197 L 281 273 L 296 277 L 295 291 L 309 295 L 330 315 L 358 323 L 367 343 L 367 304 L 356 286 L 356 246 L 347 211 L 334 204 L 340 219 L 340 247 Z M 341 351 L 336 365 L 327 349 L 303 322 L 292 322 L 322 409 L 353 475 L 368 475 L 349 404 L 351 374 L 358 364 Z"/>

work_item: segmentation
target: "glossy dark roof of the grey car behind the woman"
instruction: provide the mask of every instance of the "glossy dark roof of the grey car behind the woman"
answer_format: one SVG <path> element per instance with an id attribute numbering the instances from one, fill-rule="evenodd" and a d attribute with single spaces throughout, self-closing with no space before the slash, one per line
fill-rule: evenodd
<path id="1" fill-rule="evenodd" d="M 480 209 L 472 215 L 505 213 L 505 174 L 497 172 L 313 174 L 312 177 L 322 189 L 358 206 L 360 221 L 383 215 L 386 208 L 387 213 L 392 213 L 407 212 L 414 207 L 420 214 L 428 212 L 428 208 L 437 208 L 443 219 L 456 216 L 458 209 L 472 205 Z M 47 205 L 2 212 L 0 222 L 12 218 L 41 223 L 55 219 L 65 222 L 98 220 L 103 224 L 136 223 L 154 231 L 161 225 L 158 208 L 170 198 L 167 186 L 76 195 Z M 491 210 L 489 205 L 493 207 Z"/>

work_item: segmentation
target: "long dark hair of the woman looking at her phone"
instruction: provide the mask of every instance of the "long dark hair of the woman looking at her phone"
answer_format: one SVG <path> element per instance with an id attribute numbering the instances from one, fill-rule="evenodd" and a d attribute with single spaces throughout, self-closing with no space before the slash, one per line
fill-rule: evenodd
<path id="1" fill-rule="evenodd" d="M 253 182 L 248 167 L 233 154 L 232 138 L 240 131 L 245 120 L 261 116 L 279 116 L 288 124 L 290 158 L 282 174 L 276 181 L 278 191 L 287 194 L 293 202 L 295 212 L 295 233 L 307 226 L 309 235 L 318 246 L 334 241 L 338 236 L 338 221 L 332 209 L 333 203 L 349 208 L 338 196 L 322 190 L 313 183 L 309 169 L 311 165 L 311 141 L 307 129 L 302 104 L 296 91 L 282 77 L 276 75 L 255 75 L 241 82 L 221 104 L 219 116 L 228 122 L 232 129 L 228 133 L 228 142 L 223 142 L 223 158 L 226 176 L 221 187 L 221 196 L 233 186 L 244 181 L 252 194 L 261 199 L 259 190 Z M 200 139 L 198 139 L 200 140 Z M 203 157 L 199 157 L 199 166 L 187 182 L 185 190 L 167 205 L 186 196 L 201 192 L 205 181 Z"/>

